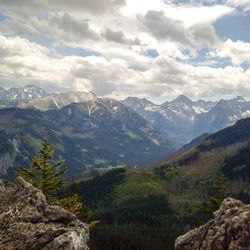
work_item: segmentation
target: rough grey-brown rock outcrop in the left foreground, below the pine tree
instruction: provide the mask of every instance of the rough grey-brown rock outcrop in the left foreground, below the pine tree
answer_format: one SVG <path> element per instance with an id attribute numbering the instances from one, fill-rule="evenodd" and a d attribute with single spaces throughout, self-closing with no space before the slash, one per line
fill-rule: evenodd
<path id="1" fill-rule="evenodd" d="M 18 177 L 0 193 L 1 250 L 88 250 L 89 230 Z"/>

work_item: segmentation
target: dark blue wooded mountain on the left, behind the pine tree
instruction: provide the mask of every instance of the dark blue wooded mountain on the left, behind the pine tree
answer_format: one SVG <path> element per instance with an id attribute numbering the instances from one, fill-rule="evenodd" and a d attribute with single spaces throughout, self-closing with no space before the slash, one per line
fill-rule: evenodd
<path id="1" fill-rule="evenodd" d="M 173 151 L 169 140 L 129 107 L 112 99 L 72 103 L 61 109 L 0 110 L 0 173 L 27 164 L 48 138 L 68 175 L 127 165 L 143 167 Z"/>

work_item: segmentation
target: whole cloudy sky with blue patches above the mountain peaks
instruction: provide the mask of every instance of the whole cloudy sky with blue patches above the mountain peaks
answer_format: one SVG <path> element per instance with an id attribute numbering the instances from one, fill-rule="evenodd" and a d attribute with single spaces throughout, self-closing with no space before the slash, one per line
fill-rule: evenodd
<path id="1" fill-rule="evenodd" d="M 250 97 L 250 0 L 0 0 L 0 86 Z"/>

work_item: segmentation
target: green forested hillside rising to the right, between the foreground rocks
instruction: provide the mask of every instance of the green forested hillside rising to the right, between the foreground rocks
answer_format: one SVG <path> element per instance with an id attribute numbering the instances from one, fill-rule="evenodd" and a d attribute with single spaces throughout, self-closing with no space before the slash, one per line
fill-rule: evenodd
<path id="1" fill-rule="evenodd" d="M 176 237 L 211 218 L 224 197 L 250 203 L 249 131 L 244 119 L 155 168 L 80 181 L 91 219 L 101 221 L 91 248 L 174 249 Z"/>

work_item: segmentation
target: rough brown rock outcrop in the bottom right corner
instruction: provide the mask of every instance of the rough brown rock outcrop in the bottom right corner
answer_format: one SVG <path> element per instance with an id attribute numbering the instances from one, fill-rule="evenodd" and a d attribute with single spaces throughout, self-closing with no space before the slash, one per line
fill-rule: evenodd
<path id="1" fill-rule="evenodd" d="M 177 238 L 176 250 L 249 250 L 250 205 L 225 199 L 214 219 Z"/>

